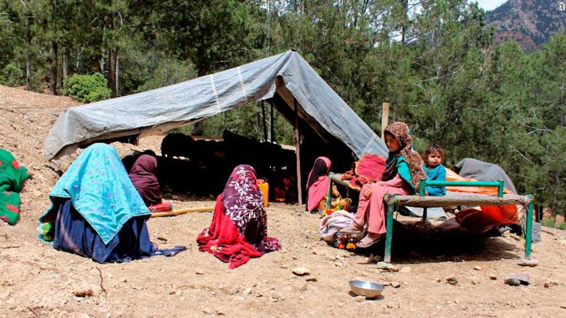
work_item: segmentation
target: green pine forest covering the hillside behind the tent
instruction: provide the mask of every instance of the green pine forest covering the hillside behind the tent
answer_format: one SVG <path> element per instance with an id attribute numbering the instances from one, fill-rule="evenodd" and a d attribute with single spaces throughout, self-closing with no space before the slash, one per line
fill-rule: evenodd
<path id="1" fill-rule="evenodd" d="M 295 48 L 376 132 L 388 101 L 417 150 L 439 143 L 449 167 L 497 163 L 520 193 L 565 213 L 566 35 L 525 53 L 493 32 L 465 0 L 0 0 L 0 83 L 71 94 L 71 75 L 101 73 L 96 100 Z M 210 118 L 204 133 L 261 138 L 258 112 Z"/>

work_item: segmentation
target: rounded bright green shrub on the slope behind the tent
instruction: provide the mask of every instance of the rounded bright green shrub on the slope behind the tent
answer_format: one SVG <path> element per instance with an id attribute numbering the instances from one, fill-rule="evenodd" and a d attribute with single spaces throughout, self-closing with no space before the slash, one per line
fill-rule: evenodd
<path id="1" fill-rule="evenodd" d="M 104 75 L 95 73 L 92 75 L 74 74 L 65 80 L 63 95 L 83 103 L 110 98 L 110 89 Z"/>

